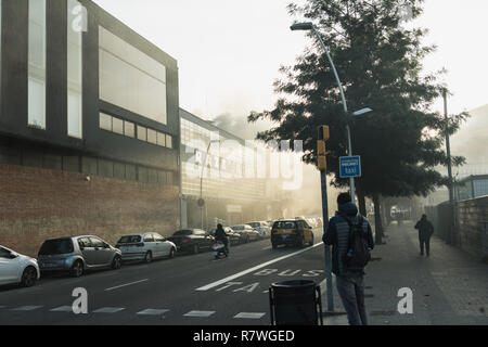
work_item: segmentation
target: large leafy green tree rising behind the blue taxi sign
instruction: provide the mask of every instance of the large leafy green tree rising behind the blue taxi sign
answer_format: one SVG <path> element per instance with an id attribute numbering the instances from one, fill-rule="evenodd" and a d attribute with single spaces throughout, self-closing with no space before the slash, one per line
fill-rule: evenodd
<path id="1" fill-rule="evenodd" d="M 446 125 L 432 105 L 446 87 L 439 82 L 445 70 L 423 74 L 423 59 L 434 46 L 423 46 L 425 29 L 407 29 L 403 23 L 422 14 L 423 0 L 309 0 L 290 13 L 312 22 L 335 62 L 349 110 L 370 107 L 374 112 L 352 117 L 343 112 L 339 89 L 325 52 L 313 33 L 313 44 L 295 66 L 281 67 L 283 78 L 274 83 L 281 97 L 274 110 L 252 112 L 248 121 L 269 119 L 270 130 L 259 132 L 265 141 L 300 139 L 304 160 L 317 159 L 317 128 L 328 125 L 329 174 L 335 187 L 338 158 L 347 155 L 349 125 L 355 155 L 362 157 L 362 177 L 357 179 L 361 213 L 364 198 L 375 206 L 376 242 L 381 243 L 381 196 L 426 195 L 447 184 L 436 167 L 447 164 L 445 134 L 454 133 L 466 114 Z M 461 165 L 462 157 L 452 158 Z"/>

